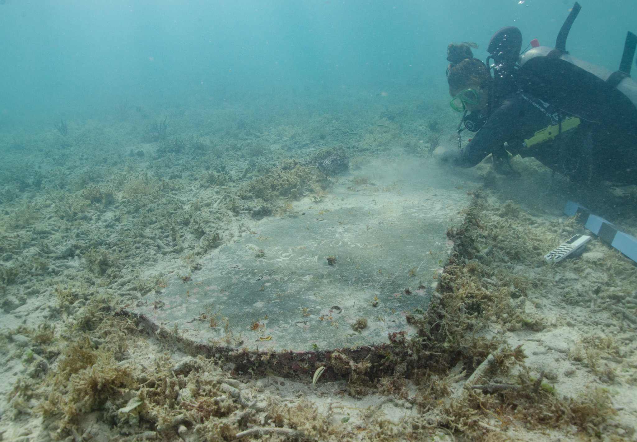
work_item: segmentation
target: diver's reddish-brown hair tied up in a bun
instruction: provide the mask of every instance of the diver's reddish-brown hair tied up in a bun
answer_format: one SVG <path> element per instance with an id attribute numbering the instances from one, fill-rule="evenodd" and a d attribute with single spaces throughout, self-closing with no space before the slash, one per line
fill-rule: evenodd
<path id="1" fill-rule="evenodd" d="M 450 90 L 460 90 L 468 85 L 478 85 L 482 88 L 489 85 L 491 75 L 489 69 L 480 60 L 473 58 L 471 48 L 477 48 L 475 43 L 462 42 L 447 46 L 447 83 Z"/>

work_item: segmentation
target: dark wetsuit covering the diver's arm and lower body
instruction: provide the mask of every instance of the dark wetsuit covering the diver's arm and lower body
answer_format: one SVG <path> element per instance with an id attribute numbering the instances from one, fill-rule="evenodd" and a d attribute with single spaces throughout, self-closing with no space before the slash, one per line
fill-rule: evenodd
<path id="1" fill-rule="evenodd" d="M 566 117 L 570 115 L 518 90 L 501 101 L 464 148 L 447 150 L 443 161 L 471 168 L 489 153 L 493 153 L 494 163 L 498 159 L 506 160 L 508 151 L 512 155 L 535 157 L 575 182 L 637 184 L 634 127 L 622 125 L 611 130 L 607 122 L 582 119 L 578 127 L 561 132 L 555 139 L 529 148 L 522 145 L 524 139 L 533 137 L 548 125 L 559 124 Z"/>

